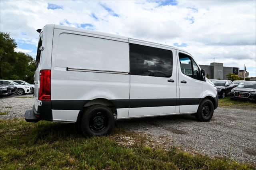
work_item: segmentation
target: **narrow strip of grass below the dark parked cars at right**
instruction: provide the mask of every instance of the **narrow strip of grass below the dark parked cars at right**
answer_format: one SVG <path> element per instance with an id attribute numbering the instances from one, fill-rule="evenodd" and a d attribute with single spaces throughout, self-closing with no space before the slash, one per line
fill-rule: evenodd
<path id="1" fill-rule="evenodd" d="M 242 100 L 231 100 L 230 97 L 225 97 L 223 99 L 219 99 L 219 106 L 225 107 L 249 107 L 256 108 L 256 103 L 252 101 L 242 101 Z"/>

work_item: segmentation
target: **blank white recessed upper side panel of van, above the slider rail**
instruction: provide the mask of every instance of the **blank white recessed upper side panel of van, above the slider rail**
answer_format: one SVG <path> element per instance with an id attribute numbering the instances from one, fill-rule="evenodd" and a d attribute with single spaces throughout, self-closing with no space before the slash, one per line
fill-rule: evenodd
<path id="1" fill-rule="evenodd" d="M 62 33 L 54 67 L 129 72 L 128 43 Z"/>

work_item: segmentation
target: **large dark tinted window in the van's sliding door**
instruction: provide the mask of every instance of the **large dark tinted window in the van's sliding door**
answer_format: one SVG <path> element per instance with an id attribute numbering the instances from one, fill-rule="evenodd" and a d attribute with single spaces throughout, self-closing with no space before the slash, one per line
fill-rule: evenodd
<path id="1" fill-rule="evenodd" d="M 172 76 L 172 51 L 130 43 L 130 74 Z"/>

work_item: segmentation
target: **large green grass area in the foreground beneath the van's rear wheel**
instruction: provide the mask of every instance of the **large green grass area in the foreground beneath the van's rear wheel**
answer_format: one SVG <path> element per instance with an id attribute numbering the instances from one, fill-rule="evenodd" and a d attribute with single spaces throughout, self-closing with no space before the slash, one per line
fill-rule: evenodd
<path id="1" fill-rule="evenodd" d="M 147 143 L 147 144 L 146 144 Z M 0 120 L 0 169 L 253 169 L 175 147 L 152 147 L 144 134 L 116 125 L 109 136 L 83 137 L 73 124 Z"/>

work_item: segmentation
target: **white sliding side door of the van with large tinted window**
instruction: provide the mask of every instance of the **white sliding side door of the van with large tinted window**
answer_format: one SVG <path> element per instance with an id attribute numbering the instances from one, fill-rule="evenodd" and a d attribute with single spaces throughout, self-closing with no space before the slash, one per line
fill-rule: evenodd
<path id="1" fill-rule="evenodd" d="M 176 59 L 174 49 L 129 39 L 129 117 L 165 115 L 176 109 Z"/>

